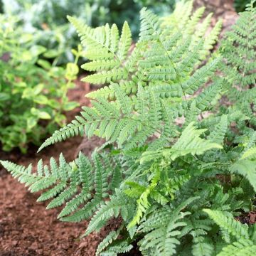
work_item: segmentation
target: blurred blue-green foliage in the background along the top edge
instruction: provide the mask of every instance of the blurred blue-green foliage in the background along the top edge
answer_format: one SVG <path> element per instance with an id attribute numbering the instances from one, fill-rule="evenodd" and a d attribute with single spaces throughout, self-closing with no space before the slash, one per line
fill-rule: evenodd
<path id="1" fill-rule="evenodd" d="M 160 15 L 169 14 L 176 0 L 1 0 L 8 16 L 18 17 L 23 31 L 33 33 L 34 40 L 48 49 L 45 58 L 53 65 L 73 61 L 71 49 L 78 45 L 78 36 L 66 16 L 77 16 L 87 25 L 101 26 L 124 21 L 131 24 L 133 36 L 139 34 L 139 11 L 148 6 Z"/>

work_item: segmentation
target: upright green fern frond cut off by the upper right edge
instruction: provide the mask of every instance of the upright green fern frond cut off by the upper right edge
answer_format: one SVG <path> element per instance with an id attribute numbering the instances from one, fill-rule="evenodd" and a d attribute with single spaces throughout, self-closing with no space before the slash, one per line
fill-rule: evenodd
<path id="1" fill-rule="evenodd" d="M 247 4 L 238 21 L 223 40 L 220 52 L 224 62 L 221 66 L 228 99 L 248 117 L 255 126 L 255 82 L 256 82 L 256 8 L 255 1 Z"/>

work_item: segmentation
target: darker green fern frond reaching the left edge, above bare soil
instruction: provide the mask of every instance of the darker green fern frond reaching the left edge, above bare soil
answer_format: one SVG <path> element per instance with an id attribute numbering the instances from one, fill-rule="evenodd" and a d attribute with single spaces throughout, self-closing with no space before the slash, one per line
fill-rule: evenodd
<path id="1" fill-rule="evenodd" d="M 47 209 L 65 206 L 58 216 L 60 220 L 80 221 L 90 217 L 100 206 L 103 198 L 109 196 L 107 181 L 114 176 L 114 169 L 120 167 L 110 168 L 106 157 L 93 154 L 92 165 L 89 159 L 80 153 L 73 164 L 68 164 L 60 154 L 59 164 L 51 159 L 49 168 L 43 166 L 42 161 L 38 161 L 38 169 L 34 173 L 31 166 L 26 169 L 9 161 L 1 161 L 1 164 L 12 176 L 18 178 L 19 182 L 26 183 L 32 193 L 48 189 L 41 194 L 38 201 L 50 199 Z M 94 170 L 95 183 L 91 178 Z"/>

